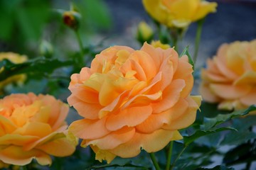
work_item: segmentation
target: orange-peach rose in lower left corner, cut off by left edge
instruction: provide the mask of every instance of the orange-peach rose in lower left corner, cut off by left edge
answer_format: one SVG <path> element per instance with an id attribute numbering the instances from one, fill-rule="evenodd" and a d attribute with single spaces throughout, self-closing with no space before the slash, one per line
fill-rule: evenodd
<path id="1" fill-rule="evenodd" d="M 36 159 L 51 164 L 50 155 L 65 157 L 76 140 L 66 131 L 68 105 L 53 96 L 11 94 L 0 100 L 0 160 L 26 165 Z"/>

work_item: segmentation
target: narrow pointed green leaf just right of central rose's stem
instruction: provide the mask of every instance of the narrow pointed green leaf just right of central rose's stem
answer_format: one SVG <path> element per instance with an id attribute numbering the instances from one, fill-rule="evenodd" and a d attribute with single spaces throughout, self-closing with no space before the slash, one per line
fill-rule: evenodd
<path id="1" fill-rule="evenodd" d="M 193 135 L 183 137 L 184 145 L 188 146 L 191 144 L 191 142 L 195 141 L 199 137 L 203 137 L 205 135 L 210 135 L 210 134 L 213 134 L 216 132 L 221 132 L 224 130 L 235 130 L 235 129 L 234 128 L 218 128 L 215 130 L 197 130 L 195 133 L 193 133 Z"/>

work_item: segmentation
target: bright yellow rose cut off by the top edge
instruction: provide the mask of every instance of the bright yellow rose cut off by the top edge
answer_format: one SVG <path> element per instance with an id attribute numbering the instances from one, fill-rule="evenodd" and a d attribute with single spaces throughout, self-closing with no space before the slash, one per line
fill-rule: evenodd
<path id="1" fill-rule="evenodd" d="M 143 0 L 144 8 L 159 23 L 185 28 L 216 11 L 215 2 L 201 0 Z"/>

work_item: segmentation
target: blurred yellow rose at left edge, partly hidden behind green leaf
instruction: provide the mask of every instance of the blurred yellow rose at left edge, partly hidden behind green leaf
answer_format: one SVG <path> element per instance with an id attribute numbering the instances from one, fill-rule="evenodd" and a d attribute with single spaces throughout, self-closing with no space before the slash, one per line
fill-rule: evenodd
<path id="1" fill-rule="evenodd" d="M 26 62 L 27 57 L 25 55 L 18 55 L 13 52 L 0 52 L 0 61 L 8 59 L 11 62 L 15 64 L 20 64 L 23 62 Z M 0 73 L 3 72 L 4 68 L 0 68 Z M 16 82 L 17 84 L 22 84 L 23 81 L 25 81 L 26 75 L 25 74 L 19 74 L 15 75 L 13 77 L 9 77 L 8 79 L 5 79 L 4 81 L 0 81 L 0 94 L 1 94 L 1 89 L 4 88 L 7 84 L 11 84 L 13 82 Z"/>

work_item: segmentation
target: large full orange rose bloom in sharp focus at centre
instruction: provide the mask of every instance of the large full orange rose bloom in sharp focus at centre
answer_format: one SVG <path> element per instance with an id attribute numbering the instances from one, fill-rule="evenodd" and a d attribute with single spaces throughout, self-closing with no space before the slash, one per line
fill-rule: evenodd
<path id="1" fill-rule="evenodd" d="M 196 118 L 201 96 L 190 96 L 192 72 L 173 48 L 109 47 L 71 77 L 68 103 L 84 119 L 69 129 L 100 161 L 157 152 Z"/>

